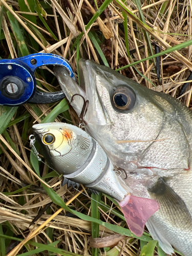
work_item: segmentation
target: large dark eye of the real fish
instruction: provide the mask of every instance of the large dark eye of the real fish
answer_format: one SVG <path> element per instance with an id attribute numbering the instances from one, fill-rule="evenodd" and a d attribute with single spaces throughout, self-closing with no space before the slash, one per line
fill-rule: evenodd
<path id="1" fill-rule="evenodd" d="M 132 90 L 125 86 L 117 87 L 112 95 L 112 104 L 116 110 L 127 111 L 133 109 L 136 97 Z"/>

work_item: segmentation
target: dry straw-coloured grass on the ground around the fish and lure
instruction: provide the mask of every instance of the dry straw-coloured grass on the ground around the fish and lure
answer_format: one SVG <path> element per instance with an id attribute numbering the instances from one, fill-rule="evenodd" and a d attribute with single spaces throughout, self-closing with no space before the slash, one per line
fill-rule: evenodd
<path id="1" fill-rule="evenodd" d="M 154 42 L 161 51 L 187 43 L 186 47 L 184 45 L 182 49 L 178 48 L 178 51 L 170 50 L 170 53 L 160 56 L 160 79 L 158 79 L 152 57 L 134 67 L 121 69 L 120 72 L 152 90 L 169 93 L 192 108 L 190 83 L 185 92 L 180 95 L 180 89 L 192 71 L 192 42 L 191 45 L 188 43 L 192 39 L 191 2 L 160 0 L 139 3 L 127 0 L 125 5 L 118 0 L 108 1 L 109 5 L 104 12 L 99 13 L 100 15 L 90 22 L 93 15 L 97 14 L 97 8 L 102 5 L 99 0 L 95 3 L 93 0 L 59 0 L 58 2 L 51 0 L 40 2 L 41 5 L 38 5 L 38 1 L 32 0 L 18 2 L 0 0 L 1 57 L 15 58 L 39 51 L 55 53 L 67 58 L 77 75 L 79 57 L 91 58 L 105 65 L 108 63 L 112 69 L 119 69 L 153 56 Z M 126 34 L 126 18 L 128 34 Z M 17 27 L 14 26 L 16 20 Z M 88 23 L 89 28 L 86 27 Z M 82 35 L 81 32 L 83 32 Z M 98 44 L 95 44 L 93 38 Z M 130 51 L 135 50 L 131 55 L 127 52 L 128 46 Z M 47 70 L 44 71 L 38 70 L 36 73 L 38 86 L 45 91 L 57 90 L 58 84 L 54 76 Z M 0 255 L 6 255 L 7 248 L 10 249 L 10 253 L 7 254 L 9 256 L 17 253 L 31 255 L 22 253 L 37 249 L 38 246 L 34 242 L 47 245 L 54 241 L 59 241 L 57 248 L 66 250 L 69 254 L 73 252 L 79 255 L 95 256 L 98 252 L 100 255 L 110 256 L 139 255 L 143 242 L 131 237 L 120 242 L 115 240 L 117 245 L 111 246 L 109 252 L 103 249 L 92 251 L 89 243 L 92 236 L 91 222 L 74 218 L 74 215 L 60 209 L 57 204 L 52 204 L 39 220 L 29 226 L 42 207 L 50 203 L 51 199 L 40 185 L 40 178 L 34 172 L 29 160 L 31 149 L 28 137 L 33 123 L 41 122 L 49 113 L 52 115 L 52 109 L 58 104 L 58 102 L 53 105 L 37 106 L 25 104 L 18 109 L 3 106 L 0 108 L 0 132 L 3 135 L 0 137 L 2 141 L 0 144 L 0 235 L 4 233 L 8 236 L 0 236 Z M 57 122 L 70 119 L 67 103 L 64 102 L 63 106 L 65 109 L 58 106 L 60 112 L 58 111 L 59 115 L 55 120 Z M 62 113 L 63 111 L 65 112 Z M 72 110 L 70 114 L 73 122 L 76 122 Z M 21 116 L 23 118 L 19 119 Z M 51 171 L 50 169 L 49 172 Z M 48 166 L 43 162 L 40 163 L 39 173 L 41 177 L 48 173 Z M 54 174 L 47 176 L 45 181 L 66 203 L 68 202 L 71 208 L 91 216 L 91 200 L 87 197 L 86 190 L 78 195 L 75 189 L 62 187 L 62 178 Z M 34 186 L 24 189 L 26 184 Z M 106 200 L 111 209 L 115 208 L 108 199 L 103 197 L 102 200 Z M 57 212 L 59 209 L 60 213 Z M 57 214 L 53 215 L 55 212 Z M 99 208 L 99 212 L 103 222 L 122 224 L 122 220 L 113 211 Z M 113 234 L 115 232 L 110 229 L 99 226 L 99 237 L 109 237 Z M 9 237 L 20 239 L 18 246 Z M 26 243 L 27 241 L 33 242 Z M 62 250 L 50 252 L 48 249 L 45 247 L 43 251 L 33 251 L 32 254 L 62 254 Z M 68 254 L 63 252 L 62 255 Z M 154 255 L 158 255 L 157 251 Z"/>

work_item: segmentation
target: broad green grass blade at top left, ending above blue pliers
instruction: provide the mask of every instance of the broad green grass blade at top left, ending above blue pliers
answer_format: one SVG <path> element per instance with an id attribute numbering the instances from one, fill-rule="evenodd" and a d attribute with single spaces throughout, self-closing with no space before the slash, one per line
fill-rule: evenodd
<path id="1" fill-rule="evenodd" d="M 22 30 L 20 29 L 16 18 L 9 11 L 7 11 L 7 16 L 9 18 L 11 27 L 12 27 L 15 37 L 17 39 L 20 52 L 22 53 L 23 56 L 29 55 L 30 53 L 27 49 L 26 42 L 25 42 L 23 34 L 22 34 Z"/>

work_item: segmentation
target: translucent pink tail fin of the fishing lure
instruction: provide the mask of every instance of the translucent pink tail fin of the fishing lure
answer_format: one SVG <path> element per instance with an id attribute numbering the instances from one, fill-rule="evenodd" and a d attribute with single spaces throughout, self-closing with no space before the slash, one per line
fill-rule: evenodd
<path id="1" fill-rule="evenodd" d="M 146 221 L 159 209 L 159 204 L 155 200 L 130 194 L 126 198 L 119 205 L 130 230 L 141 237 Z"/>

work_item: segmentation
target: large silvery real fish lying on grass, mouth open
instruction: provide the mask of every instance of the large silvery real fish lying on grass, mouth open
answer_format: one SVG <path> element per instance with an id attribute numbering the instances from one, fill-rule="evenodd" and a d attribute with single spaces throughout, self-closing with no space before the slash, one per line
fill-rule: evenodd
<path id="1" fill-rule="evenodd" d="M 124 170 L 132 195 L 160 204 L 146 222 L 153 239 L 168 254 L 192 255 L 191 110 L 92 60 L 79 60 L 80 84 L 63 68 L 54 72 L 69 102 L 89 100 L 85 130 Z M 78 116 L 82 97 L 71 102 Z"/>

